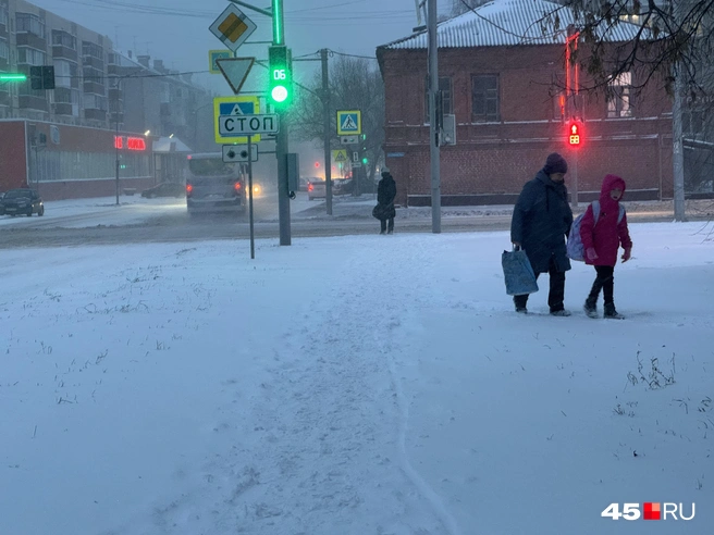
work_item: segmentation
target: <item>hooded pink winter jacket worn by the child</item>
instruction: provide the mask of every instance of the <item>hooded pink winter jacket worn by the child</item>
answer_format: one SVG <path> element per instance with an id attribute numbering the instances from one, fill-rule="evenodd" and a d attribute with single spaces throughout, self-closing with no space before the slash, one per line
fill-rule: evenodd
<path id="1" fill-rule="evenodd" d="M 615 265 L 617 263 L 617 250 L 631 249 L 632 240 L 627 229 L 627 214 L 617 223 L 619 215 L 619 202 L 614 200 L 610 192 L 619 188 L 625 194 L 625 181 L 616 175 L 607 175 L 603 179 L 600 191 L 600 215 L 598 224 L 592 213 L 592 204 L 588 207 L 582 222 L 580 223 L 580 238 L 586 251 L 586 263 L 590 265 Z M 621 199 L 621 197 L 620 197 Z M 587 251 L 593 247 L 598 253 L 594 261 L 588 260 Z"/>

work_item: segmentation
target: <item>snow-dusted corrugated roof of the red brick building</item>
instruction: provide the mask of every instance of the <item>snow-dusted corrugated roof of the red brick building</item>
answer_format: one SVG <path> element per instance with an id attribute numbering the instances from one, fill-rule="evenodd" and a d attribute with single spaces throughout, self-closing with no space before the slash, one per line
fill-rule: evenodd
<path id="1" fill-rule="evenodd" d="M 575 23 L 567 7 L 545 0 L 495 0 L 439 24 L 439 48 L 565 43 Z M 608 41 L 632 39 L 639 26 L 621 22 L 607 29 Z M 643 36 L 647 37 L 647 36 Z M 427 32 L 398 39 L 383 49 L 426 49 Z"/>

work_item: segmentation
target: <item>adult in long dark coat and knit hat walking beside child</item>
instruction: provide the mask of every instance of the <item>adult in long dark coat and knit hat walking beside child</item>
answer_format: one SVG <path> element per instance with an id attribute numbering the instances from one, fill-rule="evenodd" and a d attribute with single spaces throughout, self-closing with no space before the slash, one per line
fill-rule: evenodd
<path id="1" fill-rule="evenodd" d="M 536 178 L 526 183 L 514 208 L 510 240 L 521 247 L 536 276 L 550 274 L 547 304 L 553 315 L 570 315 L 565 310 L 565 272 L 570 269 L 565 239 L 573 225 L 565 174 L 568 164 L 557 152 L 547 157 Z M 528 295 L 514 296 L 516 312 L 527 312 Z"/>

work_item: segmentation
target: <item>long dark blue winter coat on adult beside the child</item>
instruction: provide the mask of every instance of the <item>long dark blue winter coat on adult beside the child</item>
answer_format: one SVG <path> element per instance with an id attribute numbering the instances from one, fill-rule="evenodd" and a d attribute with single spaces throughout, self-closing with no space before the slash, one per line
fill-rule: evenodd
<path id="1" fill-rule="evenodd" d="M 510 221 L 510 240 L 526 250 L 536 273 L 546 273 L 551 258 L 557 271 L 570 269 L 565 238 L 573 225 L 568 190 L 544 171 L 524 186 Z"/>

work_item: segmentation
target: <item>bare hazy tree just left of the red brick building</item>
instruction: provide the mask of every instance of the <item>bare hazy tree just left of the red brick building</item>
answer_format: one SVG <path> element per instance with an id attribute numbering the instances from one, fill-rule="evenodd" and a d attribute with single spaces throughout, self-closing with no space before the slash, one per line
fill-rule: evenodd
<path id="1" fill-rule="evenodd" d="M 340 148 L 337 139 L 337 110 L 360 110 L 362 115 L 361 148 L 368 158 L 370 184 L 374 181 L 378 163 L 382 160 L 384 144 L 384 82 L 376 61 L 333 53 L 330 62 L 330 145 Z M 316 73 L 309 90 L 300 90 L 299 104 L 295 109 L 293 124 L 300 128 L 295 133 L 301 141 L 322 140 L 323 103 L 322 76 Z"/>

